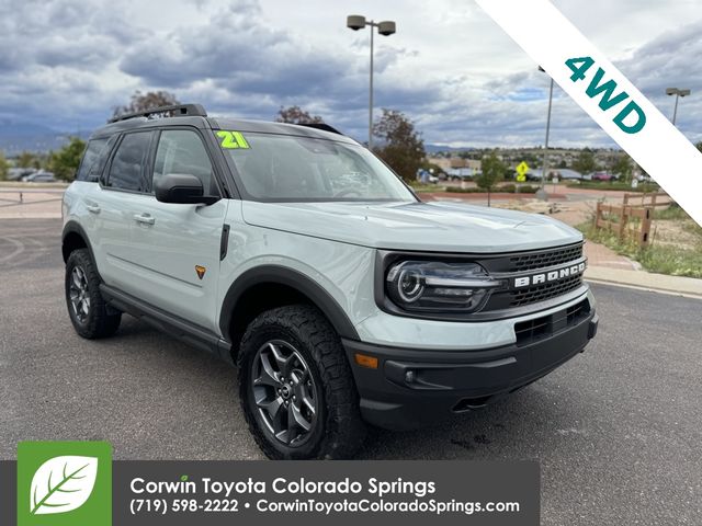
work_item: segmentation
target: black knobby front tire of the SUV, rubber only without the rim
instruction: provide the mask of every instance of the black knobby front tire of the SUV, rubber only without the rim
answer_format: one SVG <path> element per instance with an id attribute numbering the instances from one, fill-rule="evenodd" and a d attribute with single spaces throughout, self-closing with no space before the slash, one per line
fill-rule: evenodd
<path id="1" fill-rule="evenodd" d="M 314 377 L 319 391 L 318 416 L 307 442 L 288 447 L 264 427 L 253 387 L 253 361 L 271 340 L 295 347 Z M 272 459 L 351 458 L 365 437 L 359 411 L 359 393 L 341 340 L 315 307 L 294 305 L 263 312 L 247 328 L 238 354 L 239 400 L 247 424 L 261 450 Z"/>

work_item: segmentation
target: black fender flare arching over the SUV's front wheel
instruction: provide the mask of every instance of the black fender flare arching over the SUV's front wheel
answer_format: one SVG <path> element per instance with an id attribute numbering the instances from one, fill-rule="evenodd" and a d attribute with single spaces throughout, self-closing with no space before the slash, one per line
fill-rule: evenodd
<path id="1" fill-rule="evenodd" d="M 219 313 L 219 329 L 227 341 L 231 341 L 229 329 L 237 302 L 250 287 L 260 283 L 285 285 L 305 295 L 329 319 L 341 338 L 360 340 L 359 333 L 341 306 L 313 278 L 286 266 L 261 265 L 246 271 L 227 290 Z"/>

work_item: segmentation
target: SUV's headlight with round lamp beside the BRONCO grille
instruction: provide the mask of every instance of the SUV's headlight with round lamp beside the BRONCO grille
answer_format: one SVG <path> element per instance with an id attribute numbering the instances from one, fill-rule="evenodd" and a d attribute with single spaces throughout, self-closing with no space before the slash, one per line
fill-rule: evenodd
<path id="1" fill-rule="evenodd" d="M 387 271 L 385 289 L 405 310 L 475 312 L 501 287 L 477 263 L 403 261 Z"/>

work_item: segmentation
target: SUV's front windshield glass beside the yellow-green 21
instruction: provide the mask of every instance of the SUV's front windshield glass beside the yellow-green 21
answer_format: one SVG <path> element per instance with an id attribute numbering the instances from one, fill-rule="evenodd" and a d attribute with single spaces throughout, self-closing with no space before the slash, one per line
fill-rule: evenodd
<path id="1" fill-rule="evenodd" d="M 288 135 L 244 134 L 224 148 L 246 194 L 256 201 L 417 201 L 360 145 Z"/>

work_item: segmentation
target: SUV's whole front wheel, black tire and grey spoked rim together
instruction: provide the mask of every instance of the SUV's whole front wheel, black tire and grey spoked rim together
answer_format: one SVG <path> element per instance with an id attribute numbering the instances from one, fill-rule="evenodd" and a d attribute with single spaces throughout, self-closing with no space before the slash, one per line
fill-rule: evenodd
<path id="1" fill-rule="evenodd" d="M 281 307 L 248 327 L 239 350 L 240 402 L 273 459 L 349 458 L 364 426 L 339 335 L 314 307 Z"/>

